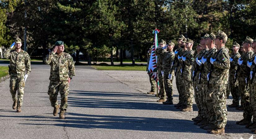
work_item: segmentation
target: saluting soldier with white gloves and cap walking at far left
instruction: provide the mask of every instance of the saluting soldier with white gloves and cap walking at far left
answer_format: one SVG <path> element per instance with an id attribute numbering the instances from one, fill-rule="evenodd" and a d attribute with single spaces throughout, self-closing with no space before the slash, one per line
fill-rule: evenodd
<path id="1" fill-rule="evenodd" d="M 15 50 L 12 50 L 14 46 Z M 17 108 L 16 112 L 21 112 L 25 81 L 31 72 L 29 54 L 22 50 L 21 46 L 21 40 L 17 37 L 15 44 L 11 45 L 3 53 L 4 58 L 10 59 L 10 92 L 13 100 L 12 109 Z M 18 99 L 16 91 L 18 91 Z"/>

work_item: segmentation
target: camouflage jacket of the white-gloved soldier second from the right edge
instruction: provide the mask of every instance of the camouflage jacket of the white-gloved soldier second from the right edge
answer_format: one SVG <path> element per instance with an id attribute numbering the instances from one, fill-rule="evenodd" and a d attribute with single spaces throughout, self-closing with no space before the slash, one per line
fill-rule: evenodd
<path id="1" fill-rule="evenodd" d="M 238 71 L 237 80 L 245 82 L 245 78 L 248 77 L 250 73 L 250 68 L 247 66 L 247 61 L 250 60 L 253 56 L 254 52 L 249 51 L 246 53 L 243 53 L 243 55 L 240 57 L 240 60 L 243 60 L 243 63 L 240 65 L 240 70 Z"/>

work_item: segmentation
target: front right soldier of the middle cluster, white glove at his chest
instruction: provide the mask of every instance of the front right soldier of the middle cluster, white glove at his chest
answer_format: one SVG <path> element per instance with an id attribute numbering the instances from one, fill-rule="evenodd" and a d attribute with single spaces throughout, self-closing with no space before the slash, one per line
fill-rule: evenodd
<path id="1" fill-rule="evenodd" d="M 194 51 L 192 50 L 193 47 L 193 40 L 190 40 L 187 38 L 186 40 L 186 48 L 187 51 L 182 55 L 182 64 L 183 68 L 181 69 L 181 73 L 183 75 L 183 86 L 184 93 L 185 93 L 185 102 L 186 107 L 182 109 L 182 112 L 191 112 L 193 111 L 192 105 L 193 105 L 193 98 L 194 98 L 194 88 L 192 84 L 192 75 L 191 75 L 191 69 L 192 64 L 194 62 Z"/>

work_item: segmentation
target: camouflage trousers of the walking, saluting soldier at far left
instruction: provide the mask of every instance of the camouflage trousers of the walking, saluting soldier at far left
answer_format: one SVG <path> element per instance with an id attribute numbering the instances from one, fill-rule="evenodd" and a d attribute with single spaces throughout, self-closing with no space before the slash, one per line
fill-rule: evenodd
<path id="1" fill-rule="evenodd" d="M 24 81 L 24 75 L 19 74 L 11 74 L 10 77 L 10 92 L 11 97 L 13 101 L 17 101 L 17 106 L 22 106 L 23 103 L 23 95 L 24 95 L 24 87 L 25 87 L 25 81 Z M 18 99 L 16 97 L 16 92 L 18 94 Z"/>

